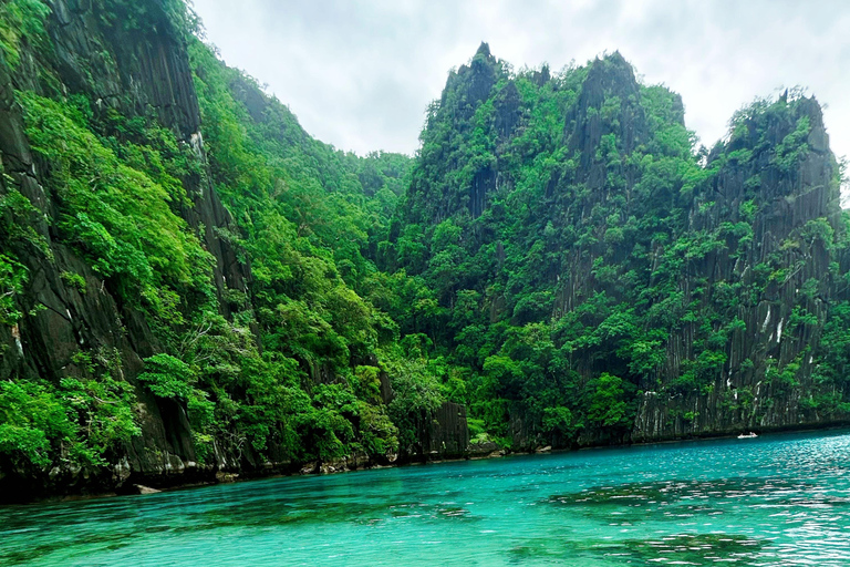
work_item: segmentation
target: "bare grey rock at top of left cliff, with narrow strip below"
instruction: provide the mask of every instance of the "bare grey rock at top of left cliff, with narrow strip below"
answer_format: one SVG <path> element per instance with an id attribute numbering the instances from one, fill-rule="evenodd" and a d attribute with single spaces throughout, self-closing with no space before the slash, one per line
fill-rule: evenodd
<path id="1" fill-rule="evenodd" d="M 51 0 L 53 16 L 49 32 L 54 59 L 49 62 L 70 93 L 85 94 L 95 102 L 95 112 L 118 110 L 127 116 L 155 116 L 204 161 L 200 109 L 189 69 L 186 40 L 164 3 L 151 2 L 145 21 L 132 28 L 125 13 L 129 8 L 110 4 L 112 18 L 91 2 Z M 32 73 L 22 70 L 21 83 Z M 35 75 L 38 76 L 38 75 Z M 29 85 L 44 91 L 41 85 Z M 183 179 L 191 206 L 182 215 L 196 230 L 201 229 L 207 250 L 216 258 L 215 285 L 222 315 L 231 307 L 226 291 L 248 292 L 250 269 L 237 258 L 237 250 L 217 231 L 235 229 L 221 199 L 207 176 Z"/>

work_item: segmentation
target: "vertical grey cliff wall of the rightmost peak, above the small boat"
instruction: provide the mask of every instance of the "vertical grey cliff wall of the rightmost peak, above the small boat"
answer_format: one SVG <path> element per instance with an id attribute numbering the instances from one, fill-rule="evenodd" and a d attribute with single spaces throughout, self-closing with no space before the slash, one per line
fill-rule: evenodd
<path id="1" fill-rule="evenodd" d="M 718 168 L 711 193 L 698 199 L 688 219 L 694 230 L 745 223 L 751 224 L 751 233 L 743 243 L 729 238 L 733 246 L 687 266 L 678 281 L 686 301 L 705 306 L 717 301 L 721 286 L 736 289 L 728 316 L 740 323 L 725 344 L 726 362 L 701 395 L 660 394 L 656 384 L 642 384 L 636 441 L 813 426 L 848 417 L 836 406 L 819 409 L 812 403 L 823 388 L 819 383 L 823 326 L 830 306 L 846 299 L 833 239 L 844 227 L 822 113 L 813 99 L 802 99 L 789 112 L 759 122 L 750 120 L 746 131 L 708 157 L 711 166 L 712 161 L 744 153 L 743 159 L 727 159 Z M 796 144 L 805 144 L 805 157 L 784 163 L 777 158 L 781 152 L 777 147 L 795 135 Z M 748 204 L 756 210 L 748 210 Z M 697 297 L 693 282 L 701 279 L 711 291 Z M 701 324 L 688 321 L 671 336 L 662 386 L 687 371 Z M 830 395 L 843 399 L 844 393 L 833 388 L 826 385 Z"/>

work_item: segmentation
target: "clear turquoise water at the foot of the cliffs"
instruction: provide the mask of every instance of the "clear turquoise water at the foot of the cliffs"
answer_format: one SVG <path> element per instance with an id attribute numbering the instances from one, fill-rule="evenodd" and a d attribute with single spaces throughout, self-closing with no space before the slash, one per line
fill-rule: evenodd
<path id="1" fill-rule="evenodd" d="M 14 566 L 850 566 L 850 433 L 0 508 Z"/>

